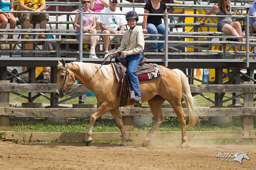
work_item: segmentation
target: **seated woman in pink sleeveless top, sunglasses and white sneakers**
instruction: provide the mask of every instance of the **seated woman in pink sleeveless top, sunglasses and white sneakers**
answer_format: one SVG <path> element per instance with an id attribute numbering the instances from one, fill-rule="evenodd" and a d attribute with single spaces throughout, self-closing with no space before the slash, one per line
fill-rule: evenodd
<path id="1" fill-rule="evenodd" d="M 81 4 L 83 5 L 83 8 L 81 10 L 78 10 L 77 12 L 92 12 L 89 9 L 91 1 L 90 0 L 81 0 Z M 76 27 L 76 39 L 80 39 L 80 14 L 76 14 L 75 20 L 74 20 L 74 27 Z M 93 14 L 83 14 L 83 33 L 86 34 L 96 34 L 97 31 L 95 29 L 96 27 L 96 21 L 95 21 L 95 15 Z M 98 58 L 95 54 L 95 47 L 98 41 L 98 36 L 97 35 L 83 35 L 83 41 L 90 41 L 91 42 L 91 50 L 90 50 L 90 55 L 89 58 Z"/>

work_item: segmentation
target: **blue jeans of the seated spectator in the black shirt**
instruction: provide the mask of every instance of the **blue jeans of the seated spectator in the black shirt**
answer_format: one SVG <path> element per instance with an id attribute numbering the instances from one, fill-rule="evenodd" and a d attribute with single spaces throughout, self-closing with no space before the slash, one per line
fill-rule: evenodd
<path id="1" fill-rule="evenodd" d="M 143 25 L 142 25 L 143 28 Z M 147 23 L 147 30 L 150 34 L 157 34 L 157 32 L 164 35 L 165 26 L 164 24 L 154 25 L 151 23 Z M 170 34 L 170 29 L 168 29 L 168 35 Z M 150 36 L 151 41 L 157 41 L 156 36 Z M 159 41 L 164 41 L 165 37 L 159 37 Z M 164 43 L 151 43 L 151 49 L 154 50 L 163 50 L 164 49 Z M 166 49 L 167 50 L 167 49 Z"/>

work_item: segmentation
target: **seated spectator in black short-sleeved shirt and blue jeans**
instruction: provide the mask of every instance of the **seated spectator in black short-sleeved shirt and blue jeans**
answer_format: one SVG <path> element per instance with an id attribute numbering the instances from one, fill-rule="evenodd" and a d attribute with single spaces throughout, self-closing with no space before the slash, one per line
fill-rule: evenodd
<path id="1" fill-rule="evenodd" d="M 166 4 L 162 2 L 161 0 L 151 0 L 148 1 L 144 7 L 144 13 L 145 14 L 164 14 L 167 12 Z M 162 24 L 162 17 L 163 16 L 148 16 L 144 15 L 143 18 L 143 33 L 147 34 L 157 34 L 157 32 L 164 35 L 165 32 L 165 26 Z M 165 16 L 164 16 L 165 18 Z M 165 22 L 165 20 L 164 20 Z M 165 23 L 167 24 L 167 23 Z M 170 34 L 170 30 L 168 29 L 168 34 Z M 159 41 L 164 41 L 165 37 L 160 37 Z M 150 36 L 151 41 L 157 41 L 156 36 Z M 164 43 L 151 43 L 151 49 L 153 52 L 164 52 Z M 167 49 L 166 49 L 167 50 Z"/>

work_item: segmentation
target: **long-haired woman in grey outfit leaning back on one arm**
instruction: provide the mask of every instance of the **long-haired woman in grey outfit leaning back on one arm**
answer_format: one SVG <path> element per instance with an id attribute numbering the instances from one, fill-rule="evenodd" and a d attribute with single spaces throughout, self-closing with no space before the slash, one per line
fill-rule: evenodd
<path id="1" fill-rule="evenodd" d="M 230 0 L 219 0 L 218 5 L 213 5 L 212 9 L 206 13 L 206 15 L 211 15 L 215 13 L 216 15 L 225 15 L 227 17 L 217 17 L 217 30 L 219 32 L 224 32 L 226 34 L 231 34 L 236 37 L 245 36 L 242 32 L 242 28 L 239 22 L 233 22 L 231 17 L 231 4 Z M 204 17 L 203 21 L 198 21 L 196 23 L 204 24 L 208 17 Z M 238 41 L 244 42 L 243 38 L 237 38 Z"/>

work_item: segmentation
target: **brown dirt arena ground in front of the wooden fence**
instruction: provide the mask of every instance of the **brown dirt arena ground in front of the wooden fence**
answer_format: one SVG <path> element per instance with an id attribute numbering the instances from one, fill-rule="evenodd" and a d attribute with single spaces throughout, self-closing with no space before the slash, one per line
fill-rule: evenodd
<path id="1" fill-rule="evenodd" d="M 157 145 L 158 144 L 158 145 Z M 0 141 L 1 169 L 255 169 L 255 144 L 19 143 Z M 220 161 L 218 153 L 247 153 L 250 160 Z"/>

